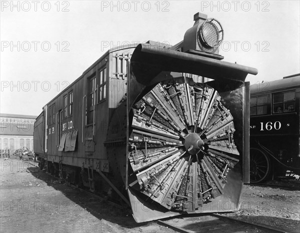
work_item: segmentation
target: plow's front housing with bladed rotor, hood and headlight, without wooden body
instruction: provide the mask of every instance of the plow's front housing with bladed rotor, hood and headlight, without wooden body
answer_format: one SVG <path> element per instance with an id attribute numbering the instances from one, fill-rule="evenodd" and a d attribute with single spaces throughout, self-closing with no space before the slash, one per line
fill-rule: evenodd
<path id="1" fill-rule="evenodd" d="M 125 186 L 137 222 L 237 210 L 249 181 L 244 79 L 257 70 L 222 61 L 221 26 L 195 21 L 182 42 L 139 44 L 130 60 Z"/>

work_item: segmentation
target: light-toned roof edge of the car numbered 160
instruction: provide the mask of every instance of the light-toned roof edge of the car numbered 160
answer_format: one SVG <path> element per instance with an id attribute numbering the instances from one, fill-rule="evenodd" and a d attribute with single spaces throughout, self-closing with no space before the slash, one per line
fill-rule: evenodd
<path id="1" fill-rule="evenodd" d="M 262 94 L 272 91 L 280 91 L 286 88 L 300 87 L 300 74 L 274 81 L 254 83 L 250 85 L 250 94 Z"/>

